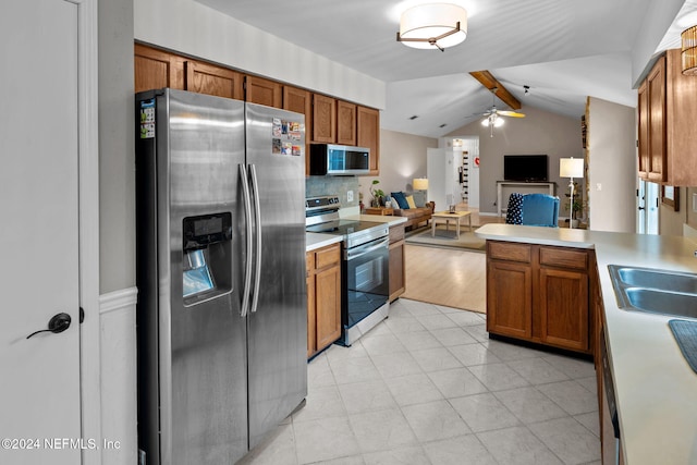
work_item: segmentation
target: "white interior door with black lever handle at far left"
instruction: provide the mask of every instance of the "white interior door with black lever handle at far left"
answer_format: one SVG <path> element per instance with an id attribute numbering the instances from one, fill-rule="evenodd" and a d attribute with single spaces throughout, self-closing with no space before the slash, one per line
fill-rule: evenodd
<path id="1" fill-rule="evenodd" d="M 80 464 L 77 5 L 0 7 L 0 463 Z M 40 332 L 58 314 L 60 333 Z"/>

